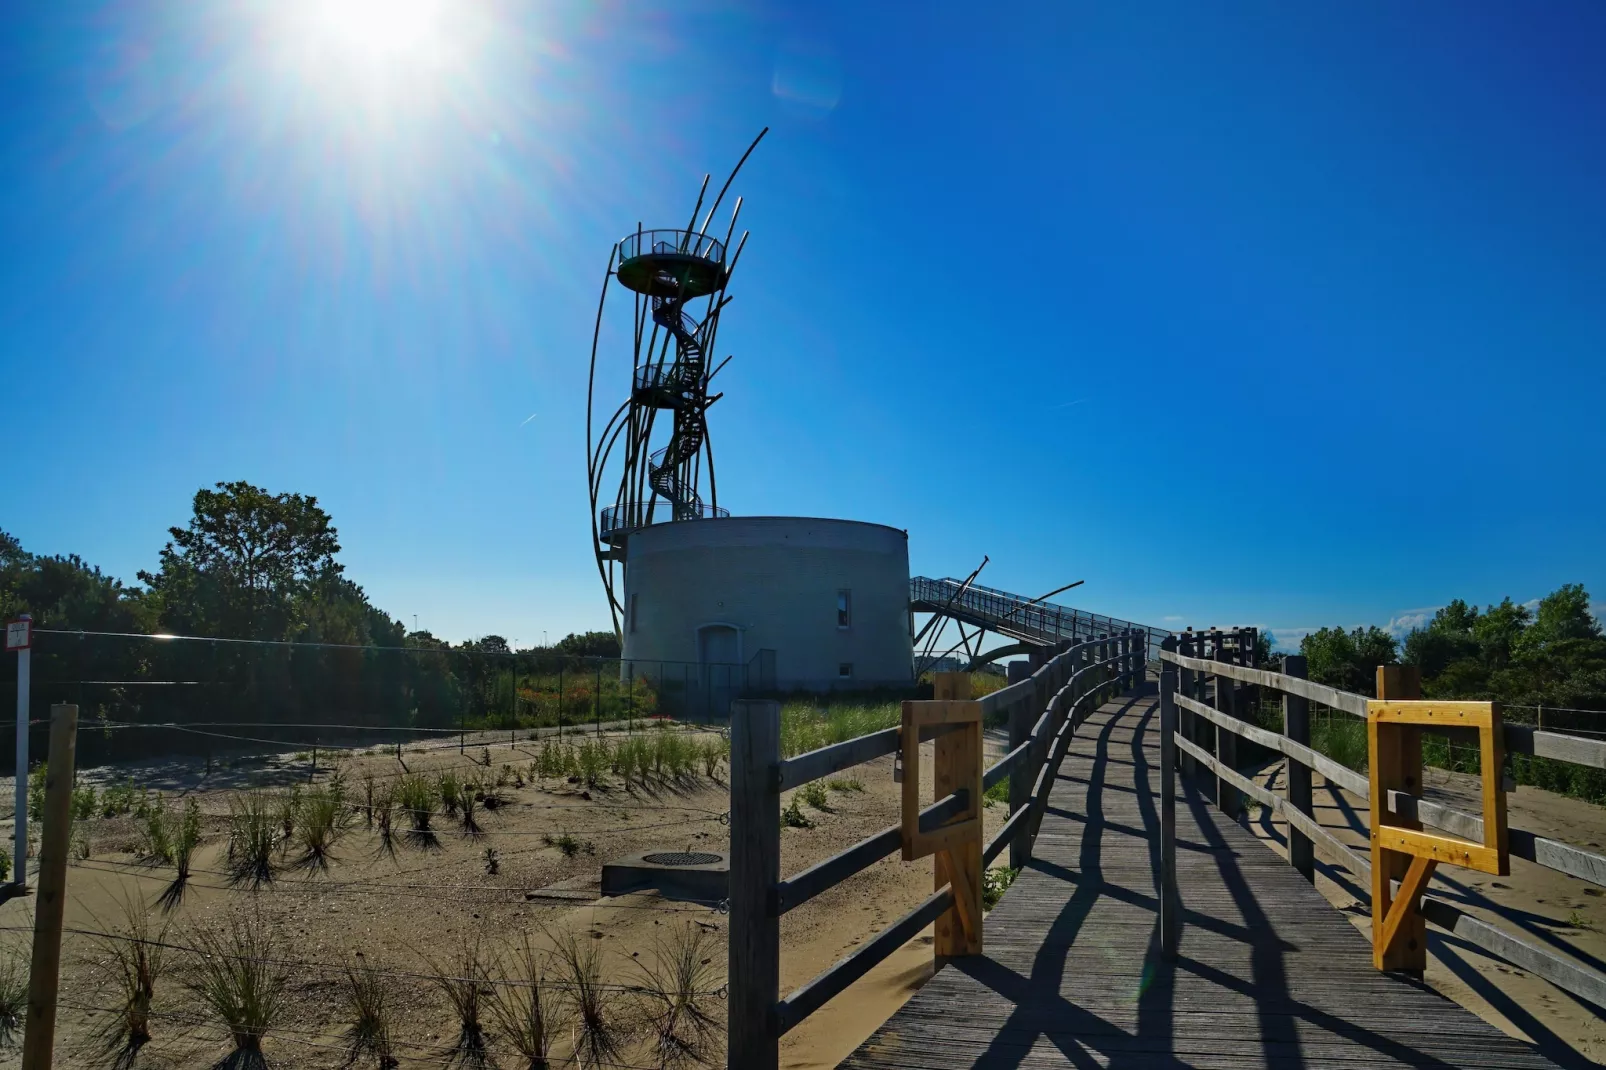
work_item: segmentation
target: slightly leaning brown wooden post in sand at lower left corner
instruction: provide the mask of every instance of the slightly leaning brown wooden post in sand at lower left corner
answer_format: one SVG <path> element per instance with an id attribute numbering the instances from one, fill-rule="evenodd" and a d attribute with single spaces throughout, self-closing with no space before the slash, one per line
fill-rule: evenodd
<path id="1" fill-rule="evenodd" d="M 56 983 L 61 975 L 61 922 L 67 906 L 77 741 L 79 707 L 50 707 L 50 770 L 45 776 L 45 821 L 39 834 L 39 901 L 34 906 L 34 959 L 27 972 L 22 1070 L 50 1070 L 56 1043 Z"/>

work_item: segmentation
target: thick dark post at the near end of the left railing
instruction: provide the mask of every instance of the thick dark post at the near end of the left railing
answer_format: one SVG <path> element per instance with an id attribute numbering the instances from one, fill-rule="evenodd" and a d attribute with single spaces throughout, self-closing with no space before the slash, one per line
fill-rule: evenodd
<path id="1" fill-rule="evenodd" d="M 781 1033 L 781 704 L 731 702 L 731 1067 L 776 1070 Z"/>

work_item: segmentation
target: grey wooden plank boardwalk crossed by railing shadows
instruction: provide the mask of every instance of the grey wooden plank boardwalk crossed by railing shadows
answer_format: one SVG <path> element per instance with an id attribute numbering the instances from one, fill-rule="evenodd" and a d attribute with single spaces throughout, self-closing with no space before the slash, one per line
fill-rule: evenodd
<path id="1" fill-rule="evenodd" d="M 1179 778 L 1180 954 L 1160 958 L 1160 709 L 1078 729 L 1033 863 L 952 959 L 842 1065 L 1551 1067 L 1372 967 L 1354 925 Z M 851 996 L 850 996 L 851 998 Z"/>

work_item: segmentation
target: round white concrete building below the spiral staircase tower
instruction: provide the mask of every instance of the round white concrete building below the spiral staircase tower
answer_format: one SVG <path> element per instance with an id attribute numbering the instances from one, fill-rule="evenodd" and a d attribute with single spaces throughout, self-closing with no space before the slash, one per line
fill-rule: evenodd
<path id="1" fill-rule="evenodd" d="M 654 524 L 630 535 L 623 604 L 638 675 L 660 662 L 740 665 L 747 686 L 777 691 L 912 676 L 909 535 L 896 527 L 790 516 Z"/>

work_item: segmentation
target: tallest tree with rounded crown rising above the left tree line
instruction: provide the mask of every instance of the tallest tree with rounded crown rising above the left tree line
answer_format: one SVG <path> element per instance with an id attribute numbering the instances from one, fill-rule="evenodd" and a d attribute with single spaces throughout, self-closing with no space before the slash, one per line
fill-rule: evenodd
<path id="1" fill-rule="evenodd" d="M 193 509 L 188 527 L 169 529 L 161 569 L 140 572 L 167 630 L 283 639 L 297 599 L 339 590 L 340 543 L 316 498 L 233 482 L 196 492 Z"/>

